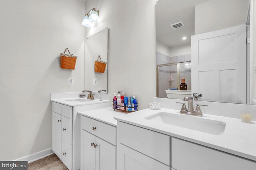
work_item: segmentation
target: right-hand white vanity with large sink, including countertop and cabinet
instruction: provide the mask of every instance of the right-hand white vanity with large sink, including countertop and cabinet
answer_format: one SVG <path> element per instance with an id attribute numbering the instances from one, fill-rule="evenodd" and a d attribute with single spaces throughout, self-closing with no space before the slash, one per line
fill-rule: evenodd
<path id="1" fill-rule="evenodd" d="M 254 170 L 256 124 L 144 109 L 118 115 L 118 170 Z M 244 130 L 246 129 L 246 130 Z"/>

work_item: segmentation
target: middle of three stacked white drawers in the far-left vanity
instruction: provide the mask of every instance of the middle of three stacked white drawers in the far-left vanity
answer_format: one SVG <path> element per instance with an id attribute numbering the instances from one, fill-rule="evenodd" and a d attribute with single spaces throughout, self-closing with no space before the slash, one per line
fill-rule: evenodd
<path id="1" fill-rule="evenodd" d="M 61 116 L 61 137 L 68 144 L 72 144 L 72 119 Z"/>

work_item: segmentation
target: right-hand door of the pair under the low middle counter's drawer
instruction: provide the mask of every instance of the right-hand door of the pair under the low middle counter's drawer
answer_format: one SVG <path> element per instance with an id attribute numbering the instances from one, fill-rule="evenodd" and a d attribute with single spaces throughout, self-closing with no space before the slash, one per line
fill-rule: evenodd
<path id="1" fill-rule="evenodd" d="M 116 170 L 116 146 L 96 137 L 96 170 Z"/>

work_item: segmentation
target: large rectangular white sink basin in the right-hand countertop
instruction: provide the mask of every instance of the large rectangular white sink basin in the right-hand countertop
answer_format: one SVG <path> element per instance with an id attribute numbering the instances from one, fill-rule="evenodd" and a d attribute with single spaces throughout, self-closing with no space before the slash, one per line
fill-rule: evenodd
<path id="1" fill-rule="evenodd" d="M 202 119 L 200 117 L 188 115 L 177 115 L 166 112 L 159 112 L 155 115 L 145 117 L 144 119 L 215 135 L 224 132 L 226 127 L 225 122 Z"/>

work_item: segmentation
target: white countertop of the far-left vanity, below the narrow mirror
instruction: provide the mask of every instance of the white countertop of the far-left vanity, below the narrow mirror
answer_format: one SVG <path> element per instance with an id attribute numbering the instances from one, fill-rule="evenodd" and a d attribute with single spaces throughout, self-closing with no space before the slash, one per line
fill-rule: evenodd
<path id="1" fill-rule="evenodd" d="M 109 102 L 108 100 L 100 101 L 99 99 L 94 99 L 94 100 L 84 101 L 84 102 L 74 102 L 74 101 L 72 101 L 72 100 L 79 100 L 79 99 L 86 99 L 86 98 L 76 97 L 76 98 L 66 98 L 66 99 L 51 99 L 51 101 L 54 101 L 56 103 L 60 103 L 60 104 L 63 104 L 63 105 L 68 105 L 68 106 L 94 105 L 94 104 L 98 104 L 98 103 L 107 103 L 107 102 Z"/>

